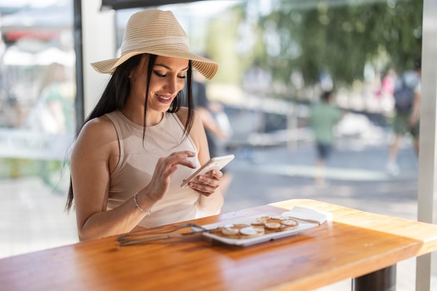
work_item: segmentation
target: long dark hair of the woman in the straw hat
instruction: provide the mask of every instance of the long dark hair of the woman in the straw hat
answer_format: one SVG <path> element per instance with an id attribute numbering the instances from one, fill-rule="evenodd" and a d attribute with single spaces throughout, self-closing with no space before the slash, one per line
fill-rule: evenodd
<path id="1" fill-rule="evenodd" d="M 113 112 L 115 110 L 121 110 L 124 107 L 124 105 L 126 104 L 126 100 L 128 99 L 129 93 L 131 92 L 131 82 L 129 80 L 129 75 L 131 75 L 131 73 L 135 70 L 135 68 L 138 68 L 138 66 L 140 66 L 141 59 L 143 57 L 148 58 L 147 89 L 146 89 L 146 98 L 145 98 L 145 107 L 144 107 L 145 109 L 144 109 L 144 119 L 143 119 L 143 129 L 142 129 L 142 137 L 144 140 L 145 132 L 146 132 L 147 100 L 149 98 L 150 78 L 153 72 L 153 68 L 155 66 L 156 58 L 158 57 L 155 54 L 138 54 L 134 57 L 131 57 L 123 64 L 118 66 L 114 71 L 114 73 L 112 74 L 112 77 L 110 78 L 108 84 L 106 85 L 105 91 L 103 91 L 103 94 L 100 100 L 98 100 L 96 107 L 94 107 L 94 110 L 92 110 L 91 113 L 88 115 L 87 119 L 85 119 L 80 129 L 82 129 L 84 124 L 86 124 L 91 119 L 94 119 L 96 117 L 101 117 L 104 114 Z M 188 116 L 185 121 L 185 128 L 184 128 L 185 138 L 188 136 L 188 133 L 190 133 L 191 127 L 193 126 L 193 118 L 194 118 L 194 104 L 193 104 L 193 97 L 191 94 L 191 80 L 192 80 L 191 61 L 188 61 L 188 71 L 186 74 L 186 78 L 187 78 L 186 105 L 188 107 Z M 184 104 L 183 91 L 184 90 L 179 91 L 176 98 L 173 100 L 172 104 L 170 105 L 168 112 L 175 113 L 179 111 L 180 107 L 182 107 L 182 104 Z M 70 175 L 70 187 L 68 188 L 68 196 L 65 206 L 66 211 L 69 211 L 73 206 L 73 197 L 74 197 L 73 181 L 71 180 L 71 175 Z"/>

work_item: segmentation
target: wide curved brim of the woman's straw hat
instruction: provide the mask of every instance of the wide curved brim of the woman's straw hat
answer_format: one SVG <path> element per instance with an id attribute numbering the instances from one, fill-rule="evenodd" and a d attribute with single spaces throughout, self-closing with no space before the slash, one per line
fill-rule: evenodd
<path id="1" fill-rule="evenodd" d="M 214 77 L 214 75 L 216 75 L 217 70 L 218 70 L 218 64 L 210 59 L 205 58 L 205 57 L 200 57 L 197 54 L 193 54 L 191 52 L 184 52 L 181 50 L 162 50 L 162 49 L 159 51 L 147 50 L 147 52 L 144 52 L 144 51 L 128 52 L 117 59 L 107 59 L 105 61 L 96 61 L 94 63 L 91 63 L 91 66 L 98 73 L 112 74 L 112 73 L 114 73 L 114 70 L 118 66 L 123 64 L 125 61 L 127 61 L 131 57 L 136 56 L 138 54 L 156 54 L 156 55 L 161 56 L 161 57 L 175 57 L 175 58 L 179 58 L 179 59 L 191 60 L 193 68 L 198 70 L 198 72 L 201 73 L 208 80 L 211 80 Z"/>

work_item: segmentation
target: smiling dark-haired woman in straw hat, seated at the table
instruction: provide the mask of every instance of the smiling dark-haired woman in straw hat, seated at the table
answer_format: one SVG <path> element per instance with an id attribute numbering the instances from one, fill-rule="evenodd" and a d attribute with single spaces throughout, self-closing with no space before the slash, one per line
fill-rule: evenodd
<path id="1" fill-rule="evenodd" d="M 191 70 L 208 79 L 218 66 L 189 52 L 170 11 L 144 10 L 126 24 L 121 57 L 91 64 L 110 73 L 71 154 L 71 189 L 80 240 L 217 214 L 222 172 L 180 184 L 209 159 L 193 110 Z M 188 78 L 188 107 L 181 107 Z"/>

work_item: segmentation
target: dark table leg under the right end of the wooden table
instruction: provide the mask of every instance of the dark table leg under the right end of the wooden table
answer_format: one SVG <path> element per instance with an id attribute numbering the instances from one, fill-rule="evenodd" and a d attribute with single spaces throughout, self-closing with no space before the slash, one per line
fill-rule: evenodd
<path id="1" fill-rule="evenodd" d="M 352 291 L 396 291 L 396 264 L 353 278 Z"/>

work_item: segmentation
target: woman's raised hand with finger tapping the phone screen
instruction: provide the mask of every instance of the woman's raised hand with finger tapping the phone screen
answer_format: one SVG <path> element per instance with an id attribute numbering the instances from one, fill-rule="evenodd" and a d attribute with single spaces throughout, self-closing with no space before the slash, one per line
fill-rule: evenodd
<path id="1" fill-rule="evenodd" d="M 176 151 L 165 158 L 159 158 L 156 163 L 154 174 L 147 185 L 138 194 L 142 192 L 153 202 L 161 200 L 163 195 L 168 191 L 173 174 L 176 172 L 178 165 L 184 165 L 195 169 L 196 165 L 189 161 L 188 158 L 195 156 L 193 151 Z"/>

